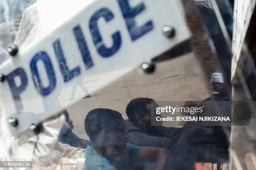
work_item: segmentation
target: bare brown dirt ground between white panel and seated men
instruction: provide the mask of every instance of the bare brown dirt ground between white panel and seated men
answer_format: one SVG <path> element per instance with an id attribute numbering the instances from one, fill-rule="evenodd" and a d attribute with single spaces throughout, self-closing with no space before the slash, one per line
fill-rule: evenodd
<path id="1" fill-rule="evenodd" d="M 145 74 L 138 67 L 112 82 L 91 97 L 67 107 L 74 122 L 74 133 L 88 139 L 84 132 L 84 118 L 94 108 L 110 108 L 125 114 L 126 105 L 136 97 L 150 97 L 156 101 L 204 100 L 210 96 L 209 82 L 201 70 L 194 53 L 182 55 L 156 64 L 152 74 Z M 81 90 L 81 89 L 79 89 Z M 82 90 L 81 90 L 82 92 Z"/>

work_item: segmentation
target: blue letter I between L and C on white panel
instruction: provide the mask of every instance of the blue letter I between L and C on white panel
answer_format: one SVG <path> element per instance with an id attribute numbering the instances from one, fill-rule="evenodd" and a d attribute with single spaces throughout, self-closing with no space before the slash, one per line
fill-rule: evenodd
<path id="1" fill-rule="evenodd" d="M 77 45 L 79 47 L 80 53 L 82 55 L 85 68 L 88 70 L 90 67 L 93 66 L 92 57 L 90 55 L 90 52 L 87 47 L 87 43 L 84 39 L 84 34 L 82 32 L 82 29 L 80 25 L 77 25 L 73 28 L 74 36 L 77 40 Z"/>

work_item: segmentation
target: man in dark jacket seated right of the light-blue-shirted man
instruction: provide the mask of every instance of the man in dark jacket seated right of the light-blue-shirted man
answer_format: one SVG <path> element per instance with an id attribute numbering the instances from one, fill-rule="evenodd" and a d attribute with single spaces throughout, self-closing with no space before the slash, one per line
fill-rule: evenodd
<path id="1" fill-rule="evenodd" d="M 228 162 L 228 149 L 216 140 L 210 129 L 202 126 L 151 126 L 152 104 L 159 107 L 150 98 L 136 98 L 128 103 L 126 114 L 129 120 L 125 120 L 128 143 L 171 150 L 167 162 L 173 169 L 193 170 L 195 162 Z"/>

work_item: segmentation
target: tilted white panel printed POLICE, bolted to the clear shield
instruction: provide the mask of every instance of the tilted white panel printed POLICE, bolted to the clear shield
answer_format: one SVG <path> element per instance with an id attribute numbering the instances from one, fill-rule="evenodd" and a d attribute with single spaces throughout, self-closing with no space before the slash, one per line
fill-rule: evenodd
<path id="1" fill-rule="evenodd" d="M 189 37 L 179 0 L 93 1 L 0 66 L 3 118 L 17 135 Z"/>

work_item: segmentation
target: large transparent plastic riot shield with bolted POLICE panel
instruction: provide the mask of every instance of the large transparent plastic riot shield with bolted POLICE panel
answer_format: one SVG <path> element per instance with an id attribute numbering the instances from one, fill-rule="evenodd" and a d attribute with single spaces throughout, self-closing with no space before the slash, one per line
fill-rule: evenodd
<path id="1" fill-rule="evenodd" d="M 231 168 L 233 126 L 184 117 L 236 115 L 232 16 L 218 0 L 28 7 L 15 46 L 3 47 L 12 56 L 0 65 L 0 161 L 61 170 Z M 160 107 L 189 111 L 170 123 L 156 117 L 179 110 Z"/>

